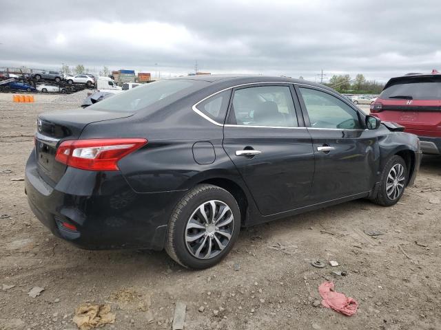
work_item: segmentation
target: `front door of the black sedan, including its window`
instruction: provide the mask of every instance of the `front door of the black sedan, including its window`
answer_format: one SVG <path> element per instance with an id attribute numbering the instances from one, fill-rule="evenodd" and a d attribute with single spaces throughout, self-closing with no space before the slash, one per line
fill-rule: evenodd
<path id="1" fill-rule="evenodd" d="M 378 171 L 376 133 L 364 115 L 326 89 L 298 85 L 315 156 L 314 203 L 369 192 Z"/>

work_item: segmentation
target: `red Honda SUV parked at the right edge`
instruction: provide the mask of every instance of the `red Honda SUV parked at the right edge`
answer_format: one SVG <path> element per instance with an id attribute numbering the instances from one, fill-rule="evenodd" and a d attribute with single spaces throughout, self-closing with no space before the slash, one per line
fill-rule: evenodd
<path id="1" fill-rule="evenodd" d="M 441 74 L 436 70 L 391 78 L 371 104 L 371 114 L 418 135 L 423 153 L 441 155 Z"/>

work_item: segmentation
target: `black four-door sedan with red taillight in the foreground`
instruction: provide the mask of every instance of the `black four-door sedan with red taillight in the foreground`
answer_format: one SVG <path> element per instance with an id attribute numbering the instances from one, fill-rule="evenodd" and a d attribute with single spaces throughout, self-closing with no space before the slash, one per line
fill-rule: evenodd
<path id="1" fill-rule="evenodd" d="M 218 263 L 243 226 L 353 199 L 391 206 L 420 142 L 333 89 L 263 76 L 150 83 L 43 113 L 25 169 L 34 214 L 81 248 Z"/>

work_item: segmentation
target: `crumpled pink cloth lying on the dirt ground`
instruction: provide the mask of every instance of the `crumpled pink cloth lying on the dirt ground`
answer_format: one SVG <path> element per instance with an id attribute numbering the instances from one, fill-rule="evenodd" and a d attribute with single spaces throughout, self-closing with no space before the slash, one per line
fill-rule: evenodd
<path id="1" fill-rule="evenodd" d="M 325 282 L 318 287 L 318 292 L 320 292 L 320 296 L 322 296 L 322 305 L 334 309 L 334 311 L 338 311 L 341 314 L 345 314 L 347 316 L 351 316 L 356 314 L 358 303 L 351 297 L 347 297 L 344 294 L 340 294 L 340 292 L 334 291 L 334 283 Z"/>

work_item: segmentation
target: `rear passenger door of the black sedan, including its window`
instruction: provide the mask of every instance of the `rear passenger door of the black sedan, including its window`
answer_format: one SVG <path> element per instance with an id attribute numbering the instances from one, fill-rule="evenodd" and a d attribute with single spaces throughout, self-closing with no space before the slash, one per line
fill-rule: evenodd
<path id="1" fill-rule="evenodd" d="M 223 147 L 264 215 L 309 203 L 314 151 L 293 95 L 288 84 L 248 85 L 230 102 Z"/>

